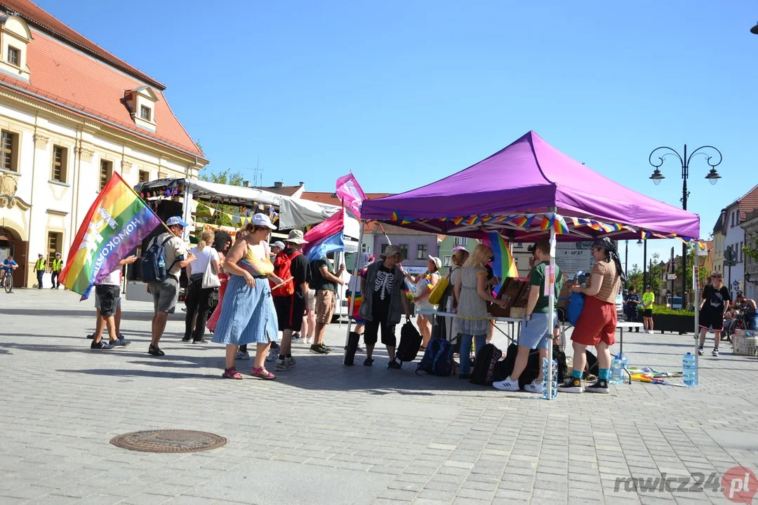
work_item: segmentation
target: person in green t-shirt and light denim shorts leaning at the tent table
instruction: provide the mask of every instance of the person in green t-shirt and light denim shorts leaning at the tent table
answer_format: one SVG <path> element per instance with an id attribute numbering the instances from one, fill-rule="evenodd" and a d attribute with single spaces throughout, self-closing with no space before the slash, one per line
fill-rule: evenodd
<path id="1" fill-rule="evenodd" d="M 550 265 L 550 241 L 547 238 L 540 238 L 534 246 L 534 257 L 537 264 L 531 270 L 529 281 L 529 298 L 526 305 L 524 322 L 522 323 L 521 334 L 518 335 L 518 354 L 513 366 L 513 371 L 509 377 L 499 382 L 493 382 L 492 385 L 501 391 L 518 391 L 521 387 L 518 384 L 518 378 L 526 369 L 529 360 L 529 353 L 532 349 L 539 349 L 539 372 L 537 378 L 542 377 L 542 360 L 547 359 L 547 352 L 553 343 L 553 329 L 558 326 L 558 294 L 563 287 L 563 274 L 561 269 L 556 265 L 555 273 L 555 298 L 553 303 L 553 320 L 549 320 L 550 298 L 545 295 L 546 285 L 550 283 L 547 275 L 547 267 Z M 526 391 L 531 393 L 541 393 L 542 384 L 534 380 L 524 386 Z"/>

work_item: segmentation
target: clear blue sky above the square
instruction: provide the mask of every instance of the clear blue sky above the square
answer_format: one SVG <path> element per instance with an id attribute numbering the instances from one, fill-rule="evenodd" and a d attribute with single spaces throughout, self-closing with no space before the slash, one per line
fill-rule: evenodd
<path id="1" fill-rule="evenodd" d="M 330 191 L 352 170 L 402 192 L 530 129 L 673 205 L 678 161 L 655 186 L 650 151 L 715 145 L 723 179 L 696 157 L 689 181 L 706 238 L 758 183 L 753 2 L 37 2 L 166 84 L 214 170 L 252 179 L 259 157 L 265 185 Z"/>

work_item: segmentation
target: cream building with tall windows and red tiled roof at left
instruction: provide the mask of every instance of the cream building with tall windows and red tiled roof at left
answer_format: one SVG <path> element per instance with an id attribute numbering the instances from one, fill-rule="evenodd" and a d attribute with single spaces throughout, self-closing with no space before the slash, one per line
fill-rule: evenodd
<path id="1" fill-rule="evenodd" d="M 114 173 L 196 176 L 208 163 L 146 76 L 27 0 L 0 0 L 0 260 L 31 287 L 64 255 Z"/>

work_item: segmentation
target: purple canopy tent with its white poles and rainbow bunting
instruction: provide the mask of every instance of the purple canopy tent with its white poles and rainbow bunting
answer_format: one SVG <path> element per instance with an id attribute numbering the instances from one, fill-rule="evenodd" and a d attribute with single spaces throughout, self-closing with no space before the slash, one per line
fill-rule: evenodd
<path id="1" fill-rule="evenodd" d="M 547 220 L 545 224 L 549 226 L 530 228 L 523 221 L 511 219 L 512 214 L 525 214 L 527 219 L 533 218 L 532 214 L 539 215 L 538 223 Z M 697 240 L 700 236 L 697 214 L 601 176 L 553 148 L 535 132 L 528 132 L 503 150 L 445 179 L 399 195 L 364 201 L 361 217 L 446 235 L 479 237 L 482 232 L 500 231 L 519 242 L 536 241 L 549 233 L 551 248 L 558 239 L 655 236 Z M 568 233 L 556 234 L 558 226 L 554 223 L 558 217 L 571 220 L 573 226 L 564 223 Z M 362 239 L 361 236 L 359 242 Z M 551 255 L 550 267 L 555 267 L 555 254 Z M 555 290 L 550 289 L 550 320 L 554 297 Z M 548 352 L 548 363 L 552 363 L 552 345 Z M 552 393 L 552 382 L 548 382 L 548 399 Z"/>

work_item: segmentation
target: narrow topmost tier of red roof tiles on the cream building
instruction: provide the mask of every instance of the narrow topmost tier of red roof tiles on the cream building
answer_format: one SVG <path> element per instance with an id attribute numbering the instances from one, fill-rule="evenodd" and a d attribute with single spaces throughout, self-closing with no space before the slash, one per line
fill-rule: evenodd
<path id="1" fill-rule="evenodd" d="M 84 38 L 74 30 L 71 30 L 55 16 L 43 11 L 42 8 L 29 2 L 29 0 L 0 0 L 0 6 L 4 7 L 6 10 L 14 11 L 28 24 L 49 33 L 55 39 L 60 39 L 67 44 L 74 45 L 95 58 L 106 61 L 108 64 L 136 76 L 150 86 L 155 86 L 161 90 L 166 89 L 166 86 L 158 83 L 158 81 L 152 79 L 152 77 L 148 76 L 146 73 L 140 72 L 126 61 L 111 55 L 111 53 L 105 51 L 105 49 L 96 45 L 94 42 Z"/>

